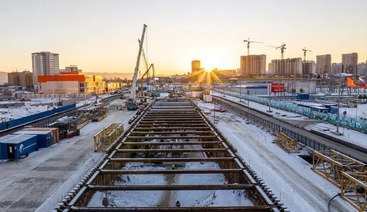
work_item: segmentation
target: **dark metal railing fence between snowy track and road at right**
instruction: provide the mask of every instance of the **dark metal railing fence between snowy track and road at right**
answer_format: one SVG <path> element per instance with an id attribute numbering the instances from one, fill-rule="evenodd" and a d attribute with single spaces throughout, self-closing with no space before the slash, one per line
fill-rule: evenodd
<path id="1" fill-rule="evenodd" d="M 245 108 L 245 106 L 241 106 L 243 108 L 241 108 L 240 106 L 237 106 L 237 103 L 232 103 L 232 101 L 230 100 L 226 100 L 226 99 L 220 99 L 220 97 L 213 97 L 213 101 L 218 104 L 218 105 L 222 105 L 224 107 L 226 107 L 229 110 L 234 111 L 235 113 L 237 113 L 238 115 L 241 115 L 242 117 L 248 117 L 250 120 L 252 120 L 253 122 L 256 122 L 276 133 L 284 133 L 287 136 L 291 137 L 292 139 L 294 139 L 295 141 L 304 144 L 307 147 L 312 148 L 313 150 L 316 151 L 324 151 L 324 150 L 335 150 L 343 155 L 346 155 L 352 159 L 356 159 L 359 160 L 363 163 L 366 163 L 366 161 L 361 160 L 361 159 L 357 159 L 349 154 L 343 153 L 342 151 L 339 151 L 337 149 L 331 148 L 325 144 L 322 144 L 320 142 L 315 141 L 314 139 L 310 139 L 307 136 L 304 136 L 300 133 L 294 132 L 290 129 L 287 129 L 283 126 L 280 126 L 279 124 L 276 124 L 274 122 L 271 122 L 269 120 L 266 120 L 264 118 L 261 118 L 253 113 L 247 113 L 247 108 Z M 234 106 L 234 104 L 236 104 L 236 106 Z"/>

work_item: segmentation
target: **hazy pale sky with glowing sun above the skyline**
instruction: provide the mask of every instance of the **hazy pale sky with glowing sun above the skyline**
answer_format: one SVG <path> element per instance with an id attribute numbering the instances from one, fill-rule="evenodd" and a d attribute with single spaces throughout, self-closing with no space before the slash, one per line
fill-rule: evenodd
<path id="1" fill-rule="evenodd" d="M 60 68 L 133 72 L 143 23 L 149 63 L 166 75 L 190 71 L 194 59 L 238 68 L 247 38 L 286 43 L 285 58 L 306 47 L 306 59 L 356 52 L 362 62 L 366 11 L 367 0 L 0 0 L 0 71 L 32 70 L 31 53 L 47 51 L 60 54 Z M 250 53 L 280 58 L 263 44 Z"/>

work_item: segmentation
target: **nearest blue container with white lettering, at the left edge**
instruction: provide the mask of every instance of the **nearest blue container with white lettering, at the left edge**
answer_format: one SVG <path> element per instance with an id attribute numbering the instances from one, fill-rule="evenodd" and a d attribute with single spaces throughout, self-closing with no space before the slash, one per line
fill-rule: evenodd
<path id="1" fill-rule="evenodd" d="M 0 159 L 20 159 L 38 150 L 36 135 L 5 135 L 0 138 Z"/>

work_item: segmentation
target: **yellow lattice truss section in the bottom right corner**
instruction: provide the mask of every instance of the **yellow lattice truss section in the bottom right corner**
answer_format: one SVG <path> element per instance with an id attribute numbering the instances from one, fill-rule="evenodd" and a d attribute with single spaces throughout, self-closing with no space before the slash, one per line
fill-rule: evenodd
<path id="1" fill-rule="evenodd" d="M 367 172 L 342 172 L 340 197 L 360 212 L 367 212 Z"/>

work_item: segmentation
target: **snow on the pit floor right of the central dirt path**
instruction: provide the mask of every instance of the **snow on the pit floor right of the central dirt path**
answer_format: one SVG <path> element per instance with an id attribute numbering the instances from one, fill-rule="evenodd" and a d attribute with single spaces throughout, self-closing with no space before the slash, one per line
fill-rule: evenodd
<path id="1" fill-rule="evenodd" d="M 219 169 L 215 162 L 189 162 L 183 169 Z M 180 185 L 199 184 L 227 184 L 223 174 L 180 174 Z M 202 190 L 202 191 L 178 191 L 177 200 L 182 207 L 207 207 L 207 206 L 253 206 L 245 197 L 244 190 Z"/>

